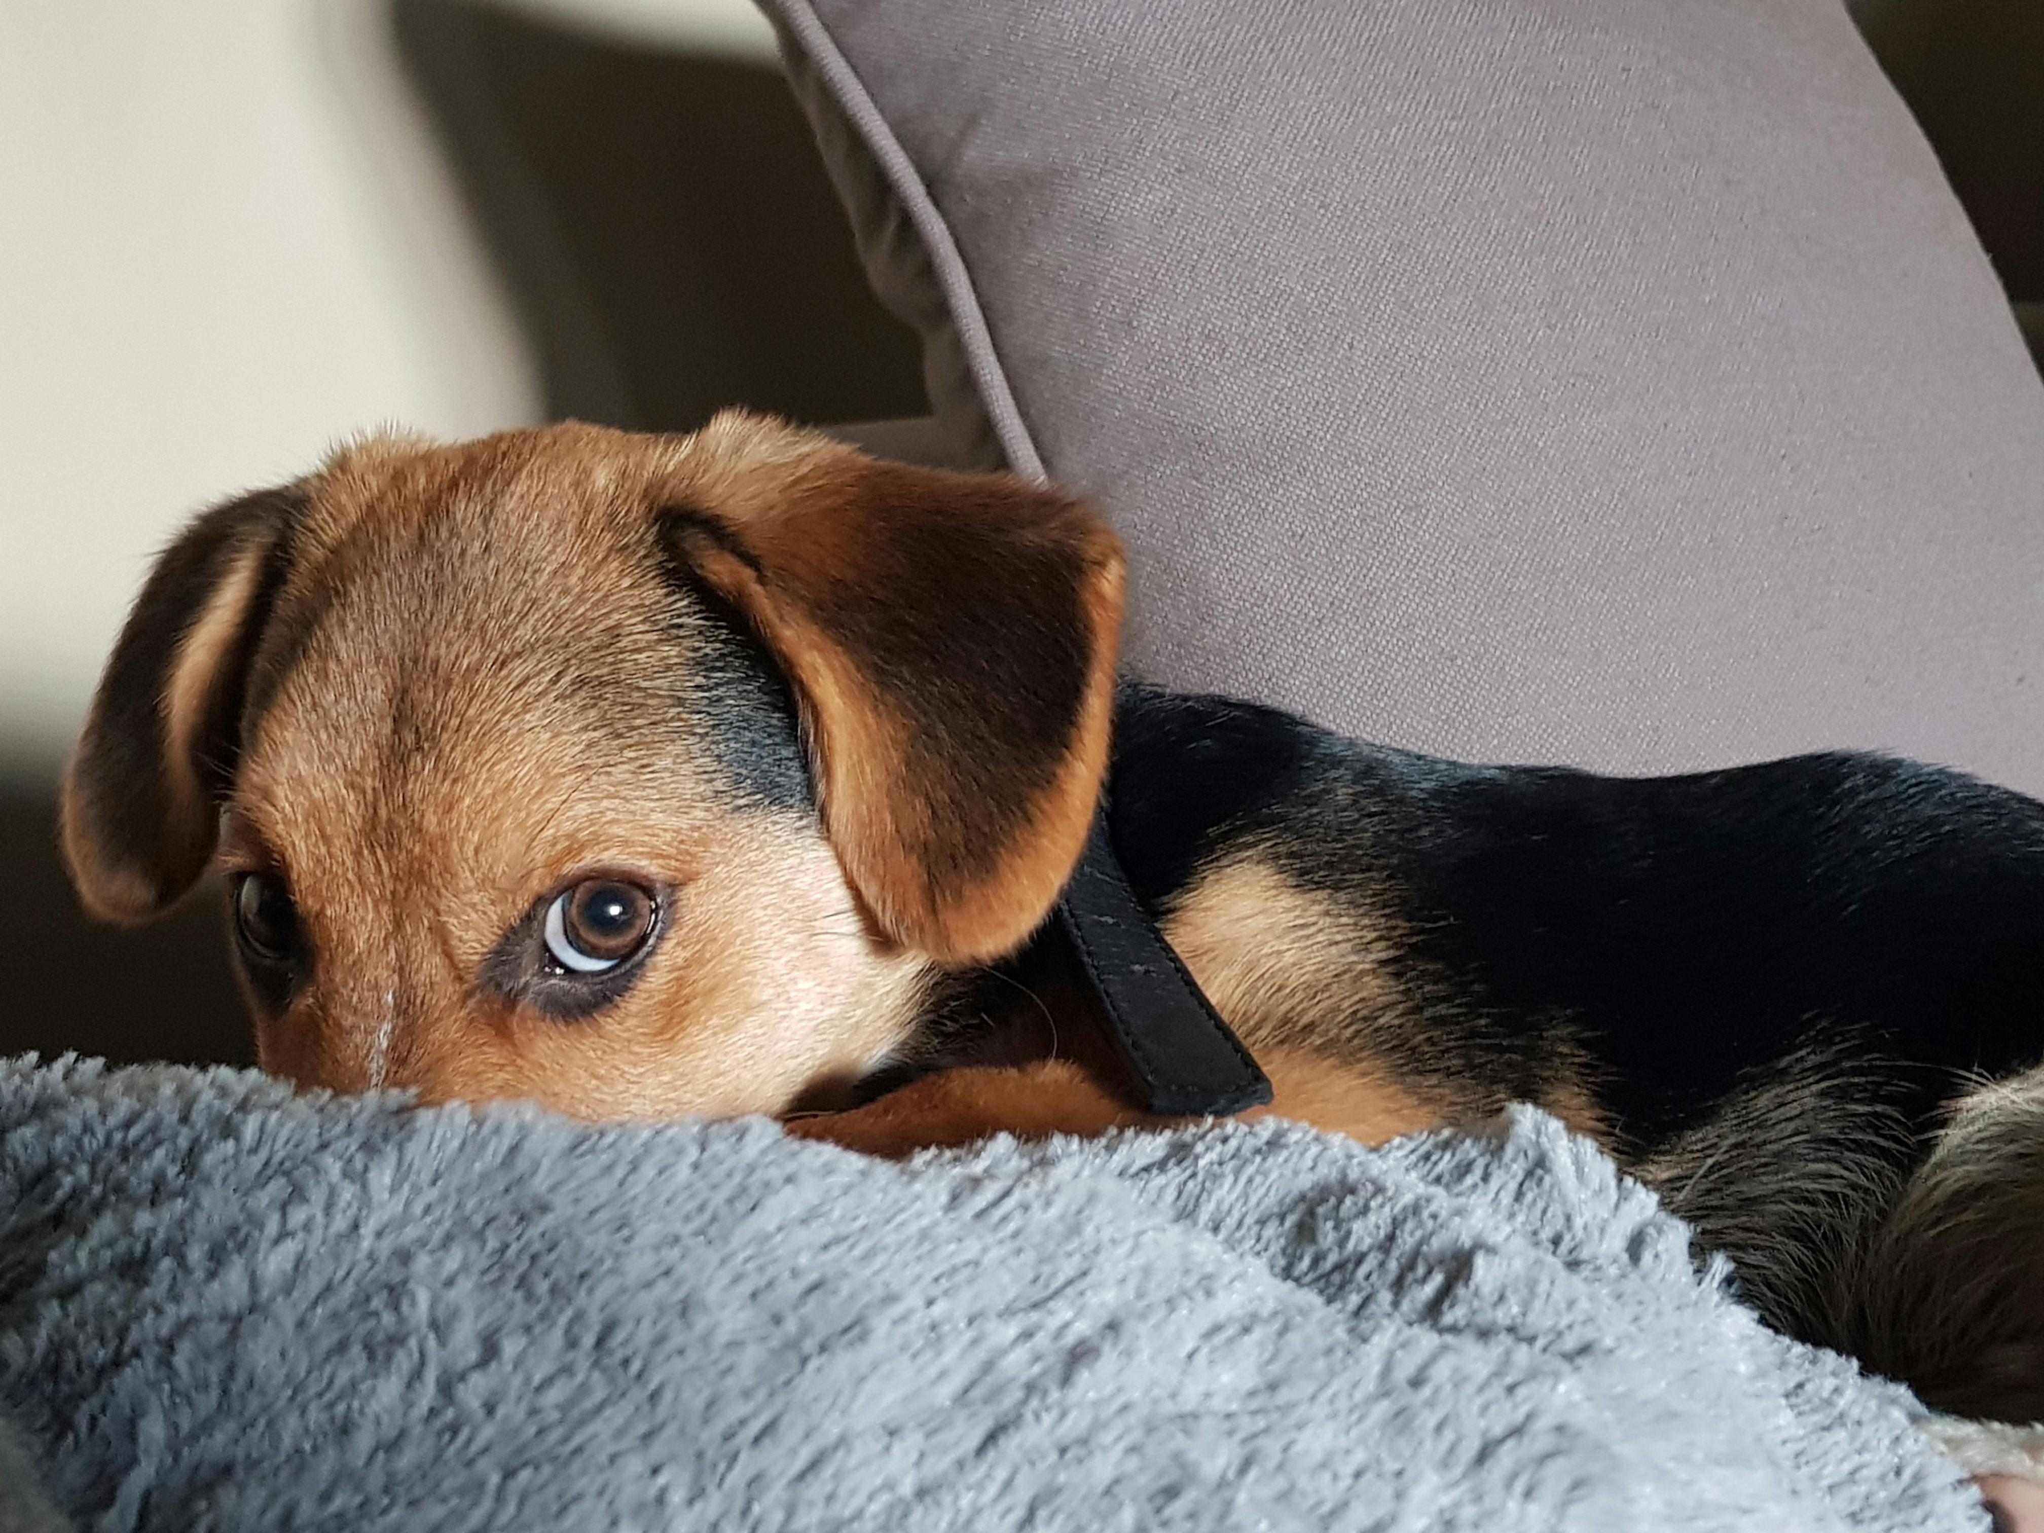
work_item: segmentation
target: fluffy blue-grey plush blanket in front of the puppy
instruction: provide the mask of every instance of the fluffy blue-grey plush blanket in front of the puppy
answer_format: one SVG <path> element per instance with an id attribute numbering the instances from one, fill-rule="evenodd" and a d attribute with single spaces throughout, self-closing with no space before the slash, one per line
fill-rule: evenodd
<path id="1" fill-rule="evenodd" d="M 4 1061 L 0 1414 L 39 1529 L 1987 1527 L 1535 1112 L 897 1167 Z"/>

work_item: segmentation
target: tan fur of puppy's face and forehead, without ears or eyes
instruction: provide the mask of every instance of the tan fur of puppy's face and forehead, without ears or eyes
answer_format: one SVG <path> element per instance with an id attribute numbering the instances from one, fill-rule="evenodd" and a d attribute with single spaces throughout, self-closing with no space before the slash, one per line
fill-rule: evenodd
<path id="1" fill-rule="evenodd" d="M 591 1118 L 775 1110 L 883 1053 L 928 965 L 867 938 L 814 826 L 730 805 L 677 707 L 672 603 L 617 536 L 634 476 L 609 433 L 564 433 L 593 452 L 366 444 L 315 499 L 266 646 L 296 664 L 223 846 L 288 871 L 321 955 L 262 1061 Z M 478 993 L 503 930 L 583 869 L 677 891 L 644 979 L 570 1022 Z"/>

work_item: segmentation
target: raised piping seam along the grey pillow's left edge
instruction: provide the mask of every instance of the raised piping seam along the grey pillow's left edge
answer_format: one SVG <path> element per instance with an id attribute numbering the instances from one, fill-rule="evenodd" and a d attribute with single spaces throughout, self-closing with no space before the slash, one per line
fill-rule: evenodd
<path id="1" fill-rule="evenodd" d="M 967 362 L 971 364 L 973 386 L 979 390 L 979 403 L 993 423 L 1002 452 L 1008 456 L 1008 466 L 1024 478 L 1042 482 L 1049 478 L 1042 468 L 1042 454 L 1036 452 L 1036 442 L 1030 437 L 1028 425 L 1022 423 L 1022 411 L 1016 407 L 1014 388 L 1008 384 L 1000 352 L 993 345 L 993 333 L 979 305 L 979 292 L 973 288 L 973 274 L 967 270 L 965 256 L 959 253 L 959 243 L 950 237 L 950 225 L 944 223 L 944 215 L 930 196 L 930 188 L 916 172 L 901 141 L 893 137 L 873 94 L 865 88 L 865 82 L 852 69 L 842 49 L 838 49 L 836 39 L 832 39 L 830 29 L 816 10 L 805 0 L 760 0 L 760 4 L 779 12 L 801 41 L 803 51 L 838 98 L 852 129 L 865 141 L 881 174 L 887 176 L 893 194 L 908 208 L 910 223 L 922 237 L 924 253 L 930 258 L 930 270 L 936 272 L 938 286 L 944 292 L 944 307 L 950 311 L 950 323 L 959 331 Z"/>

